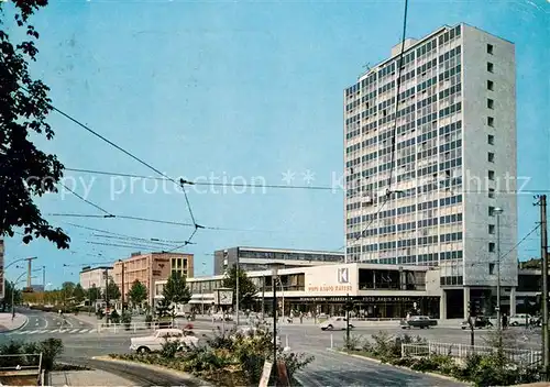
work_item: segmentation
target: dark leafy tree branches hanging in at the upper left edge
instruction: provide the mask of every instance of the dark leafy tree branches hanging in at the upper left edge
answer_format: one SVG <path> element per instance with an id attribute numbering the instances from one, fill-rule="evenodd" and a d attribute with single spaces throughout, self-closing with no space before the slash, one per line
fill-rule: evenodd
<path id="1" fill-rule="evenodd" d="M 46 122 L 52 111 L 47 97 L 50 88 L 33 80 L 29 62 L 36 60 L 35 41 L 38 32 L 29 23 L 30 16 L 47 0 L 16 0 L 7 8 L 0 2 L 0 235 L 13 236 L 22 228 L 23 243 L 44 237 L 68 248 L 70 239 L 59 228 L 52 226 L 42 215 L 36 197 L 57 192 L 63 177 L 63 164 L 33 143 L 38 136 L 54 137 Z M 4 14 L 13 15 L 14 24 L 7 23 Z M 12 43 L 6 31 L 13 31 L 22 41 Z"/>

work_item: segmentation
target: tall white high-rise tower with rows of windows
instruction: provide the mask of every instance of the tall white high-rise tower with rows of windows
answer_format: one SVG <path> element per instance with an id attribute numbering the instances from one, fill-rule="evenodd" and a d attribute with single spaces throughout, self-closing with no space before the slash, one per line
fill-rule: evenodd
<path id="1" fill-rule="evenodd" d="M 515 308 L 515 73 L 513 43 L 459 24 L 398 44 L 344 90 L 348 262 L 439 266 L 441 306 L 464 311 L 493 299 L 499 247 Z"/>

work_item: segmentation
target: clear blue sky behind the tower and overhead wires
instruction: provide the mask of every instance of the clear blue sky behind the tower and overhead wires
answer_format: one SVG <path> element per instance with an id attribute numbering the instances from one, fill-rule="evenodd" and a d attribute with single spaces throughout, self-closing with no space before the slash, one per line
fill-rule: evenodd
<path id="1" fill-rule="evenodd" d="M 550 184 L 548 130 L 550 59 L 547 1 L 410 0 L 407 35 L 420 37 L 442 24 L 466 22 L 516 44 L 518 175 L 526 189 Z M 226 176 L 229 181 L 331 186 L 343 169 L 342 90 L 364 65 L 388 56 L 400 38 L 402 1 L 186 2 L 51 1 L 34 16 L 41 33 L 35 77 L 54 104 L 169 176 Z M 144 166 L 52 113 L 52 142 L 40 141 L 69 168 L 152 175 Z M 185 200 L 170 184 L 130 189 L 129 179 L 66 173 L 70 188 L 106 210 L 125 215 L 189 222 Z M 80 180 L 78 180 L 80 179 Z M 221 180 L 218 180 L 221 181 Z M 76 184 L 76 185 L 74 185 Z M 205 189 L 202 187 L 201 189 Z M 343 245 L 340 190 L 249 187 L 189 194 L 197 222 L 232 231 L 200 231 L 187 251 L 196 273 L 211 272 L 212 252 L 233 245 L 337 250 Z M 538 220 L 532 196 L 519 197 L 518 236 Z M 40 199 L 44 213 L 96 214 L 66 194 Z M 38 256 L 47 281 L 77 280 L 82 264 L 124 258 L 139 248 L 89 242 L 111 240 L 67 225 L 185 240 L 191 229 L 119 219 L 50 217 L 64 226 L 70 251 L 37 241 L 8 240 L 7 263 Z M 240 231 L 238 231 L 240 230 Z M 538 255 L 538 235 L 519 256 Z M 101 254 L 103 258 L 95 255 Z M 72 265 L 63 267 L 63 264 Z M 8 277 L 21 269 L 8 270 Z M 41 279 L 37 279 L 40 283 Z"/>

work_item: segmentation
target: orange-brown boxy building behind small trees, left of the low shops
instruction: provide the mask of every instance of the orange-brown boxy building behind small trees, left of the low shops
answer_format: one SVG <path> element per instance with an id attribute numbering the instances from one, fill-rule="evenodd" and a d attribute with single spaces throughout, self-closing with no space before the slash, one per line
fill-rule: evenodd
<path id="1" fill-rule="evenodd" d="M 193 254 L 182 253 L 133 253 L 129 258 L 117 262 L 113 266 L 113 279 L 124 302 L 128 302 L 128 291 L 138 279 L 147 288 L 147 302 L 153 305 L 153 287 L 155 281 L 168 279 L 173 272 L 179 272 L 193 277 Z M 122 283 L 122 267 L 124 281 Z"/>

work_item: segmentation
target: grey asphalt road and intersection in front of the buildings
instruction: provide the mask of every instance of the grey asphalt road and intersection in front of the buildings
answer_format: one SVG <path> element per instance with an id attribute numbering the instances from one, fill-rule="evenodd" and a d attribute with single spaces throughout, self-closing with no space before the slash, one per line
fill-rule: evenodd
<path id="1" fill-rule="evenodd" d="M 97 327 L 81 322 L 74 317 L 67 316 L 67 325 L 62 327 L 63 319 L 55 313 L 44 313 L 41 311 L 24 310 L 29 316 L 29 322 L 19 331 L 0 335 L 0 342 L 7 340 L 38 341 L 46 338 L 59 338 L 63 340 L 65 351 L 63 361 L 82 364 L 92 356 L 101 356 L 110 353 L 128 353 L 130 338 L 135 335 L 146 335 L 147 332 L 117 331 L 98 332 Z M 212 324 L 210 321 L 195 321 L 195 330 L 198 335 L 209 334 L 212 329 L 221 328 L 221 324 Z M 226 324 L 227 329 L 231 324 Z M 389 334 L 420 335 L 429 341 L 443 343 L 470 343 L 470 332 L 463 331 L 459 327 L 436 327 L 429 330 L 402 330 L 395 323 L 382 327 L 356 328 L 352 335 L 361 336 L 361 340 L 370 339 L 381 330 Z M 315 356 L 315 362 L 309 364 L 299 375 L 300 382 L 309 386 L 457 386 L 457 383 L 435 378 L 424 374 L 403 371 L 399 368 L 381 365 L 374 362 L 350 357 L 330 351 L 333 347 L 342 346 L 344 342 L 344 331 L 321 331 L 319 327 L 312 324 L 285 324 L 279 327 L 279 335 L 283 345 L 288 345 L 293 351 L 304 352 Z M 476 344 L 484 345 L 487 331 L 476 330 Z M 540 346 L 540 330 L 526 331 L 522 328 L 509 330 L 509 335 L 514 336 L 517 345 L 537 349 Z M 108 371 L 117 366 L 94 363 L 101 369 Z M 113 368 L 113 369 L 114 369 Z M 116 372 L 114 372 L 116 371 Z M 116 374 L 122 376 L 125 372 L 120 367 L 114 369 Z M 151 379 L 138 380 L 140 371 L 129 369 L 130 379 L 140 385 L 155 385 Z M 138 374 L 135 374 L 138 373 Z M 132 376 L 133 375 L 133 376 Z M 156 385 L 167 385 L 168 382 Z M 152 384 L 150 384 L 152 383 Z M 169 385 L 169 384 L 168 384 Z"/>

